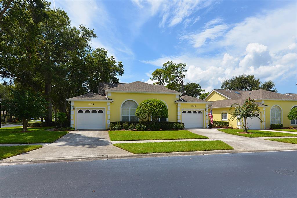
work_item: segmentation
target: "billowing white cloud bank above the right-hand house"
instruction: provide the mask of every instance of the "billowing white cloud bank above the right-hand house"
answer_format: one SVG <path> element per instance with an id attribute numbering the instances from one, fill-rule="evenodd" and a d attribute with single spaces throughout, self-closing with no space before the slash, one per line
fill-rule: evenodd
<path id="1" fill-rule="evenodd" d="M 230 54 L 220 54 L 215 57 L 197 57 L 192 54 L 181 56 L 164 56 L 152 61 L 143 61 L 147 64 L 162 66 L 167 61 L 187 63 L 186 81 L 201 85 L 206 91 L 220 88 L 224 79 L 241 73 L 254 75 L 261 81 L 280 81 L 290 79 L 296 75 L 297 54 L 286 53 L 272 56 L 268 47 L 259 43 L 250 43 L 246 47 L 244 57 L 234 57 Z"/>

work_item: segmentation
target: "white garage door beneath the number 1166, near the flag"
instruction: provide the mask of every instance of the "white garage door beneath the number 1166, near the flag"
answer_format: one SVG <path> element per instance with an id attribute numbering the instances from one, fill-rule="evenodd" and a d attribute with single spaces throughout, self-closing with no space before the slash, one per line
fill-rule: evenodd
<path id="1" fill-rule="evenodd" d="M 202 128 L 203 114 L 199 110 L 183 110 L 181 112 L 181 122 L 184 123 L 185 128 Z"/>

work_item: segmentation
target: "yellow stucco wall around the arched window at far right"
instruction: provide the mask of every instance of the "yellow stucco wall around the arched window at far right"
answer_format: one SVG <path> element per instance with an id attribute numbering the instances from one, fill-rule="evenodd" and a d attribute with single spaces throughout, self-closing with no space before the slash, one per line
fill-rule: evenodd
<path id="1" fill-rule="evenodd" d="M 289 111 L 293 108 L 293 106 L 297 106 L 297 101 L 283 101 L 283 100 L 264 100 L 261 101 L 263 104 L 267 105 L 268 107 L 265 108 L 265 125 L 266 128 L 270 128 L 270 111 L 271 108 L 275 105 L 279 106 L 282 111 L 281 116 L 281 123 L 284 127 L 296 127 L 296 125 L 291 125 L 290 120 L 288 119 L 287 115 Z"/>

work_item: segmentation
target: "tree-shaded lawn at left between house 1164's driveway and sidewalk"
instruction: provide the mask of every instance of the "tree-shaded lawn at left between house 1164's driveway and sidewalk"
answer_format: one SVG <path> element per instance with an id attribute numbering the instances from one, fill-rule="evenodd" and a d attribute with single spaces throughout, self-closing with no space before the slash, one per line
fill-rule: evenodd
<path id="1" fill-rule="evenodd" d="M 53 127 L 32 127 L 23 132 L 22 127 L 0 129 L 0 144 L 51 143 L 67 134 L 67 131 L 45 131 Z"/>

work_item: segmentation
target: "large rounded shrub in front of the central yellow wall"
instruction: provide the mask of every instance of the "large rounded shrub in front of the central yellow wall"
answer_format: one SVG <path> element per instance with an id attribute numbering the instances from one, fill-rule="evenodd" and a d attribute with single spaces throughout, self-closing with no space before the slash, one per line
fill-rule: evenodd
<path id="1" fill-rule="evenodd" d="M 138 105 L 135 116 L 146 122 L 149 122 L 149 120 L 155 121 L 160 117 L 168 118 L 168 109 L 162 100 L 147 99 Z"/>

